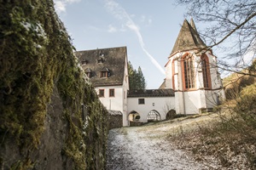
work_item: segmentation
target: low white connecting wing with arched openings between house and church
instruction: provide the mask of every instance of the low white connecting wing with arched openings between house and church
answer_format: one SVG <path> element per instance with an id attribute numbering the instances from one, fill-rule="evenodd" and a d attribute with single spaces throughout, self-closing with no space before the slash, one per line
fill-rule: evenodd
<path id="1" fill-rule="evenodd" d="M 166 120 L 167 113 L 170 111 L 175 111 L 175 97 L 172 89 L 142 89 L 128 92 L 130 122 Z"/>

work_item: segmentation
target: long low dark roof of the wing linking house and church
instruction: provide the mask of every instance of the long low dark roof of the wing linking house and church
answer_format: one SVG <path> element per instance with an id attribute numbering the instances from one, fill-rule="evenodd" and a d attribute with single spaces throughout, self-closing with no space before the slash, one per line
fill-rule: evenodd
<path id="1" fill-rule="evenodd" d="M 140 89 L 140 90 L 129 90 L 127 97 L 165 97 L 174 96 L 174 91 L 171 88 L 166 89 Z"/>

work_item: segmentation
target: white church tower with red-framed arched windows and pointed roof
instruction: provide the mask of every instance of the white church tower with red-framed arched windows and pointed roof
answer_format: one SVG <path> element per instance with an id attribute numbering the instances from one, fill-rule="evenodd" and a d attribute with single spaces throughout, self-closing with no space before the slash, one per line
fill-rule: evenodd
<path id="1" fill-rule="evenodd" d="M 184 20 L 166 63 L 164 88 L 175 91 L 177 114 L 212 111 L 224 98 L 217 57 L 207 50 L 191 19 Z"/>

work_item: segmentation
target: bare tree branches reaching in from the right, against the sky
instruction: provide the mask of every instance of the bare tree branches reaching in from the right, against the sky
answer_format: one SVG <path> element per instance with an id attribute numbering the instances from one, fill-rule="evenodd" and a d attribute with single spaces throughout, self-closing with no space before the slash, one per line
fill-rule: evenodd
<path id="1" fill-rule="evenodd" d="M 176 0 L 176 3 L 187 6 L 185 16 L 207 26 L 199 32 L 208 44 L 207 49 L 216 48 L 225 54 L 218 59 L 220 69 L 250 74 L 244 69 L 250 69 L 248 66 L 256 57 L 255 0 Z"/>

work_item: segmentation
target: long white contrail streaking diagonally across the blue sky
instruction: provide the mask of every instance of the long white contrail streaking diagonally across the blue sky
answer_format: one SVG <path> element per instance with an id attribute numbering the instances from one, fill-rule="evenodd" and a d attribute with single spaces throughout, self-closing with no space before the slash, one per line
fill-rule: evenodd
<path id="1" fill-rule="evenodd" d="M 111 14 L 113 14 L 114 17 L 116 17 L 119 20 L 125 20 L 128 28 L 131 29 L 131 31 L 134 31 L 137 35 L 137 39 L 141 45 L 141 48 L 143 48 L 143 52 L 147 54 L 148 58 L 151 60 L 151 62 L 156 66 L 156 68 L 162 73 L 166 74 L 166 71 L 161 67 L 161 65 L 154 59 L 154 57 L 148 53 L 148 50 L 145 48 L 145 44 L 143 42 L 143 37 L 141 32 L 139 31 L 138 26 L 131 20 L 131 17 L 129 14 L 126 13 L 125 8 L 122 8 L 119 3 L 114 2 L 113 0 L 105 0 L 105 5 L 110 11 Z"/>

